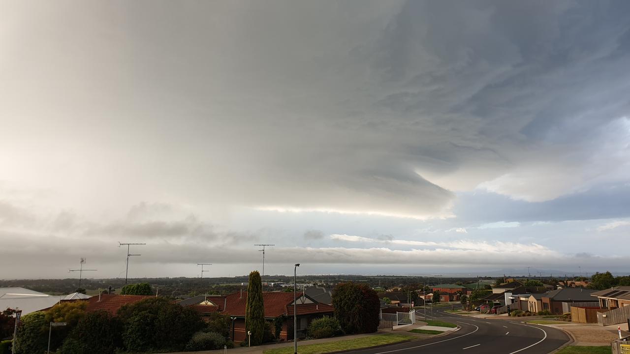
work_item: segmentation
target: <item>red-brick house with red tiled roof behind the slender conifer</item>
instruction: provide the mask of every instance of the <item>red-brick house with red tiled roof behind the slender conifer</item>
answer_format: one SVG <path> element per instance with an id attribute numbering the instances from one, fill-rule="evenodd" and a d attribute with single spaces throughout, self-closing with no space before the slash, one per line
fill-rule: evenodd
<path id="1" fill-rule="evenodd" d="M 323 292 L 322 292 L 323 294 Z M 306 328 L 312 320 L 333 316 L 333 307 L 321 304 L 317 300 L 302 292 L 298 292 L 295 309 L 297 310 L 297 336 L 306 337 Z M 293 297 L 292 292 L 263 292 L 263 304 L 265 305 L 265 320 L 280 320 L 279 340 L 293 340 Z M 210 316 L 212 312 L 229 316 L 231 319 L 231 337 L 233 341 L 246 340 L 245 331 L 245 307 L 247 304 L 247 292 L 235 292 L 225 296 L 199 295 L 182 300 L 178 304 L 193 306 L 202 313 L 202 316 Z"/>

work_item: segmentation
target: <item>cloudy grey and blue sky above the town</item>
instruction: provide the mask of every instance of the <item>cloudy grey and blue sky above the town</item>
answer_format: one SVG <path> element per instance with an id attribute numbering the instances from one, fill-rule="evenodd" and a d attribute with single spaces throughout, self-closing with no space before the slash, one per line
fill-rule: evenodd
<path id="1" fill-rule="evenodd" d="M 0 4 L 0 278 L 630 272 L 628 1 Z"/>

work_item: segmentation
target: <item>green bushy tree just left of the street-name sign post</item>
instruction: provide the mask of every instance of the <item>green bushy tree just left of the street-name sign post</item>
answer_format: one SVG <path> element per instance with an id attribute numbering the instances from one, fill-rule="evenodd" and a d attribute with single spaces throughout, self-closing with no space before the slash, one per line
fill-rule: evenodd
<path id="1" fill-rule="evenodd" d="M 46 312 L 31 312 L 20 319 L 18 335 L 15 339 L 16 354 L 35 354 L 46 351 L 49 323 Z"/>

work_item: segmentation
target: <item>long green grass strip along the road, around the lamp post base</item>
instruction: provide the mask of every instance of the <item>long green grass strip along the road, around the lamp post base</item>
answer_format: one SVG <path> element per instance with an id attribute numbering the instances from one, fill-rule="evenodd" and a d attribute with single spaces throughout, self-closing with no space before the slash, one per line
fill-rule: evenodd
<path id="1" fill-rule="evenodd" d="M 353 350 L 369 348 L 370 346 L 398 343 L 400 341 L 413 340 L 415 337 L 407 334 L 375 334 L 355 340 L 340 340 L 328 343 L 309 344 L 299 346 L 300 354 L 322 354 L 333 351 Z M 264 350 L 263 354 L 292 354 L 293 346 Z"/>

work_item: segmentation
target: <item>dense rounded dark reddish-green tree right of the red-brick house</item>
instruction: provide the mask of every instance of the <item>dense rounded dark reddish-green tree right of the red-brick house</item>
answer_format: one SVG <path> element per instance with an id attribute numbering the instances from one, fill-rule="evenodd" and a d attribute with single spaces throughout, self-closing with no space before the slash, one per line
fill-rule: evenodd
<path id="1" fill-rule="evenodd" d="M 379 327 L 381 301 L 367 284 L 338 283 L 333 290 L 335 317 L 345 333 L 372 333 Z"/>

